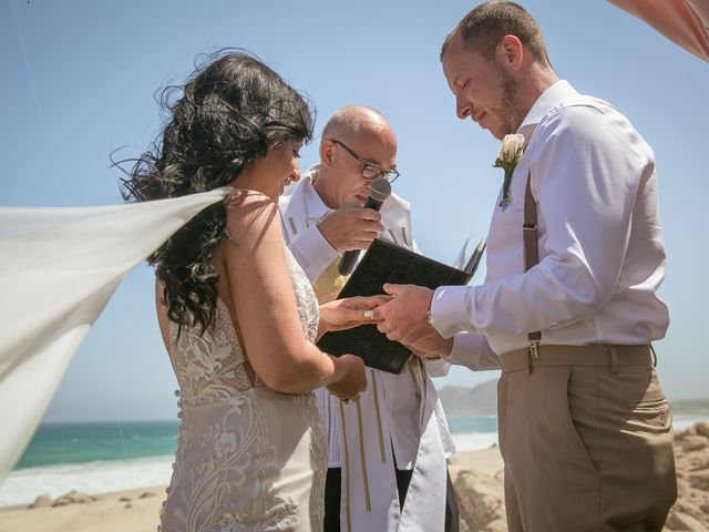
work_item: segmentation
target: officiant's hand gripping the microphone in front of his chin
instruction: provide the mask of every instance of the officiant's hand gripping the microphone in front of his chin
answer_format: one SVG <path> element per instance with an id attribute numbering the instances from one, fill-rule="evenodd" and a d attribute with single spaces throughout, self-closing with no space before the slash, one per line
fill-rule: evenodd
<path id="1" fill-rule="evenodd" d="M 383 226 L 373 208 L 340 207 L 318 224 L 318 229 L 338 253 L 367 249 Z"/>

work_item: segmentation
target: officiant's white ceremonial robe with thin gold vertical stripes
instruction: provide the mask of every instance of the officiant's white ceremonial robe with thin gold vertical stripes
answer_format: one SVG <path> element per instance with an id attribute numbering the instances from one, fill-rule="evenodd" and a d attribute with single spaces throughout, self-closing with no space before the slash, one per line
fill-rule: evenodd
<path id="1" fill-rule="evenodd" d="M 312 186 L 316 174 L 317 166 L 279 203 L 288 246 L 314 283 L 340 258 L 317 228 L 332 211 Z M 408 202 L 392 194 L 381 215 L 382 238 L 419 250 L 411 236 Z M 368 368 L 367 390 L 349 405 L 325 389 L 316 391 L 330 442 L 329 467 L 342 468 L 342 531 L 443 530 L 445 459 L 454 446 L 431 376 L 443 376 L 448 369 L 443 360 L 418 359 L 399 375 Z M 399 469 L 413 470 L 402 511 L 394 456 Z"/>

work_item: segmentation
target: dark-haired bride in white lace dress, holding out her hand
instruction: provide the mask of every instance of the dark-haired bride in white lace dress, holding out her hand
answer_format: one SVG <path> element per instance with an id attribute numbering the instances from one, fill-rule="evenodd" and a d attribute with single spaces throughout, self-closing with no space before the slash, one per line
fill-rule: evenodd
<path id="1" fill-rule="evenodd" d="M 327 439 L 312 390 L 356 399 L 366 378 L 360 358 L 314 341 L 360 325 L 381 300 L 318 309 L 284 244 L 275 202 L 299 178 L 298 150 L 312 132 L 292 88 L 230 53 L 166 100 L 162 142 L 124 180 L 126 198 L 235 192 L 150 257 L 182 418 L 162 530 L 321 530 Z"/>

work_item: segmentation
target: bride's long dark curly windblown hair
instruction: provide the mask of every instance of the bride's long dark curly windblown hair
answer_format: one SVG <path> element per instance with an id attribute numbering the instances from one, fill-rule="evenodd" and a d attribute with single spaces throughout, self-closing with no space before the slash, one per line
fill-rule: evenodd
<path id="1" fill-rule="evenodd" d="M 254 158 L 279 145 L 312 137 L 311 111 L 296 90 L 246 52 L 217 52 L 184 86 L 162 92 L 166 114 L 162 142 L 121 180 L 126 201 L 184 196 L 226 186 Z M 168 317 L 205 330 L 214 320 L 218 275 L 214 246 L 224 237 L 223 202 L 177 231 L 148 263 L 164 284 Z"/>

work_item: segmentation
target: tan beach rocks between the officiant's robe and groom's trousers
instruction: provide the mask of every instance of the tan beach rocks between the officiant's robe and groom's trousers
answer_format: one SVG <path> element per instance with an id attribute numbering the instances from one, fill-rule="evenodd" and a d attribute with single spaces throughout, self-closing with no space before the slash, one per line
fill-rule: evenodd
<path id="1" fill-rule="evenodd" d="M 463 470 L 455 480 L 461 514 L 461 532 L 506 532 L 502 478 Z"/>

